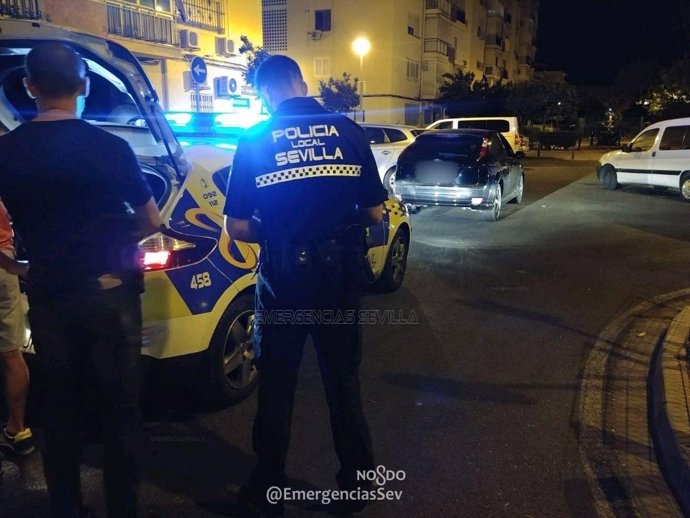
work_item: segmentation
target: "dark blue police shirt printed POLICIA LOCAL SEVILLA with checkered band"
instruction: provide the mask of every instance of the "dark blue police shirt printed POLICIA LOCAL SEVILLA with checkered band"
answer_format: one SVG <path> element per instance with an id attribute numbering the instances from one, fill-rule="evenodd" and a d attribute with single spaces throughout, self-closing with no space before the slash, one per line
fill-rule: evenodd
<path id="1" fill-rule="evenodd" d="M 318 241 L 387 199 L 364 130 L 311 98 L 281 103 L 240 138 L 224 213 L 261 217 L 262 240 Z"/>

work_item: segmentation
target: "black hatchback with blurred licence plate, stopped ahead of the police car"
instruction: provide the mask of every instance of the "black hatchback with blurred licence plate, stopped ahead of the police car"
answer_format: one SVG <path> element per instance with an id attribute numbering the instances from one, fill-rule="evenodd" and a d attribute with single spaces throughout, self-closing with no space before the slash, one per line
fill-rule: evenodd
<path id="1" fill-rule="evenodd" d="M 417 137 L 398 159 L 395 194 L 404 203 L 481 211 L 496 221 L 520 203 L 525 174 L 506 139 L 490 130 L 439 130 Z"/>

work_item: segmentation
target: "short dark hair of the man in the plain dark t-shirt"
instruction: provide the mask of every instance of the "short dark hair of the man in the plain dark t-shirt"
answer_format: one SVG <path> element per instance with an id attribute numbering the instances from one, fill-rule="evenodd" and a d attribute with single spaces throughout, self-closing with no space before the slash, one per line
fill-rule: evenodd
<path id="1" fill-rule="evenodd" d="M 86 64 L 77 52 L 65 43 L 39 43 L 26 55 L 26 75 L 46 97 L 73 95 L 82 86 Z"/>

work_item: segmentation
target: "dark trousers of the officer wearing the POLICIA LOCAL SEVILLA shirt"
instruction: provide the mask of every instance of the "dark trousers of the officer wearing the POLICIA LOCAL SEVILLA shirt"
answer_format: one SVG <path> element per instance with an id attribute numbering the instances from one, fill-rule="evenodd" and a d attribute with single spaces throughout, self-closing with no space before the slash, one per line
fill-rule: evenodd
<path id="1" fill-rule="evenodd" d="M 253 429 L 257 466 L 250 486 L 259 494 L 270 486 L 285 486 L 297 372 L 307 335 L 311 335 L 316 349 L 328 401 L 333 442 L 340 461 L 338 485 L 342 489 L 364 486 L 357 481 L 356 472 L 373 469 L 374 459 L 360 397 L 360 292 L 318 275 L 290 275 L 281 281 L 272 286 L 259 275 L 257 283 L 254 340 L 259 352 L 260 378 Z M 321 315 L 329 322 L 289 322 L 313 320 L 309 315 Z M 339 323 L 331 321 L 331 317 Z"/>

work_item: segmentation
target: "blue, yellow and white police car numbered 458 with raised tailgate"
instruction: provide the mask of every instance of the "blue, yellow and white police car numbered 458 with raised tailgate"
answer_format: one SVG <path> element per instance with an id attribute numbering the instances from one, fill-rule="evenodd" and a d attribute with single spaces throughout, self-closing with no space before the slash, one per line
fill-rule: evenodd
<path id="1" fill-rule="evenodd" d="M 69 43 L 84 58 L 91 93 L 82 117 L 130 143 L 163 217 L 165 229 L 140 243 L 146 284 L 142 354 L 158 365 L 184 365 L 209 399 L 241 399 L 257 379 L 252 330 L 259 250 L 221 231 L 232 146 L 223 149 L 216 139 L 183 147 L 144 70 L 122 45 L 23 20 L 0 20 L 5 131 L 36 113 L 22 85 L 24 58 L 45 40 Z M 392 291 L 405 275 L 410 221 L 397 200 L 385 207 L 383 222 L 368 229 L 369 261 L 375 287 Z M 33 352 L 29 330 L 25 348 Z"/>

